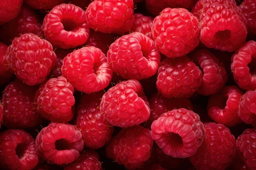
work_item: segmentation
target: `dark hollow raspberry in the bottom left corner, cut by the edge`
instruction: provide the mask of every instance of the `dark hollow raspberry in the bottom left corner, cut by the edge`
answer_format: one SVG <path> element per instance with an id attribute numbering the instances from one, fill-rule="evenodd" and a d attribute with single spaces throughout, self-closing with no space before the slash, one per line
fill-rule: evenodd
<path id="1" fill-rule="evenodd" d="M 10 170 L 32 170 L 38 163 L 35 140 L 24 130 L 0 133 L 0 167 Z"/>

